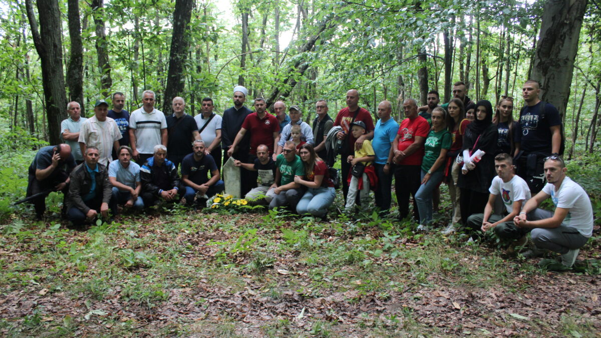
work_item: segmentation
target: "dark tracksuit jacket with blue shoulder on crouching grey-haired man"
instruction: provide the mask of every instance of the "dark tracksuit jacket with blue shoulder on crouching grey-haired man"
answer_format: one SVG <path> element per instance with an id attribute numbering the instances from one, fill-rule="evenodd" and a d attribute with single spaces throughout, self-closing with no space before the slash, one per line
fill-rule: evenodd
<path id="1" fill-rule="evenodd" d="M 159 191 L 171 190 L 180 187 L 180 176 L 173 162 L 165 159 L 160 167 L 154 166 L 154 157 L 151 157 L 140 167 L 140 180 L 142 182 L 142 192 L 150 192 L 158 196 Z"/>

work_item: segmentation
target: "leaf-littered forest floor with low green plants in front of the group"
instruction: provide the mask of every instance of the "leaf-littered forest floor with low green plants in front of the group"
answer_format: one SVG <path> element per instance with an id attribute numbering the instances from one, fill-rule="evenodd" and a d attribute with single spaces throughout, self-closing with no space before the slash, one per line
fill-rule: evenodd
<path id="1" fill-rule="evenodd" d="M 0 336 L 601 332 L 599 239 L 580 268 L 547 272 L 493 242 L 373 217 L 177 208 L 73 230 L 13 216 L 0 236 Z"/>

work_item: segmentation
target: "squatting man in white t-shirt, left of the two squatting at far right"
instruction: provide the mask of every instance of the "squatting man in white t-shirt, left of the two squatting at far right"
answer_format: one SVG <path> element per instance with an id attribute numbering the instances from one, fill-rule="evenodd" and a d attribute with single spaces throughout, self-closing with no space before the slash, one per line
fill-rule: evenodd
<path id="1" fill-rule="evenodd" d="M 468 227 L 474 230 L 487 232 L 493 230 L 499 238 L 514 240 L 519 239 L 516 244 L 510 245 L 507 249 L 509 253 L 513 252 L 514 245 L 523 246 L 526 244 L 526 229 L 522 229 L 513 224 L 513 219 L 519 215 L 522 206 L 532 196 L 528 183 L 513 173 L 513 159 L 507 153 L 501 153 L 495 156 L 495 169 L 498 176 L 492 180 L 489 188 L 489 200 L 484 207 L 484 214 L 474 214 L 468 217 Z M 501 195 L 507 215 L 502 216 L 501 210 L 495 210 L 493 207 L 498 195 Z"/>

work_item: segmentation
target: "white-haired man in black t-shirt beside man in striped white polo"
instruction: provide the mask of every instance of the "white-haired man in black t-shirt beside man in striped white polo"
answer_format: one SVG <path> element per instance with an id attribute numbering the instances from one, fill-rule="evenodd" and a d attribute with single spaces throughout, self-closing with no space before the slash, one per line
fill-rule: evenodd
<path id="1" fill-rule="evenodd" d="M 168 143 L 167 152 L 169 161 L 173 162 L 175 169 L 182 160 L 192 153 L 192 141 L 200 140 L 198 126 L 194 117 L 186 114 L 186 103 L 182 97 L 174 97 L 171 102 L 173 114 L 166 118 Z"/>

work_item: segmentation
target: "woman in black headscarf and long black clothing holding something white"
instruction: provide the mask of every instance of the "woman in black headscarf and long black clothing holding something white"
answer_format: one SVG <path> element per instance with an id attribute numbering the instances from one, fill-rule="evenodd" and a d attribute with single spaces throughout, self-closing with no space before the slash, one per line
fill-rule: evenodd
<path id="1" fill-rule="evenodd" d="M 472 214 L 484 212 L 488 201 L 490 182 L 495 177 L 495 151 L 498 131 L 492 123 L 493 110 L 488 100 L 476 103 L 475 120 L 468 125 L 463 135 L 462 174 L 459 175 L 457 186 L 461 189 L 460 208 L 463 224 L 467 224 Z M 469 158 L 477 150 L 484 155 L 480 161 Z M 469 229 L 474 232 L 478 229 Z"/>

